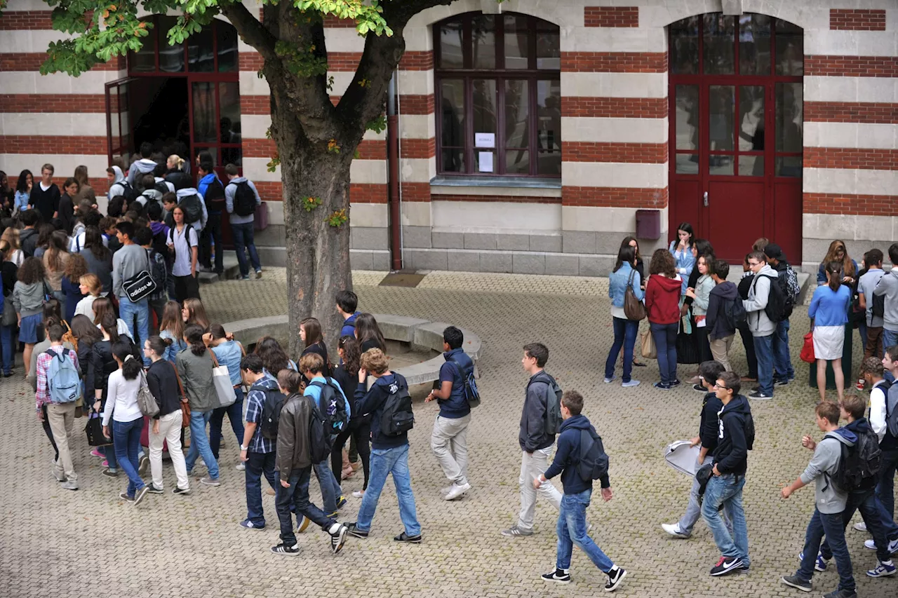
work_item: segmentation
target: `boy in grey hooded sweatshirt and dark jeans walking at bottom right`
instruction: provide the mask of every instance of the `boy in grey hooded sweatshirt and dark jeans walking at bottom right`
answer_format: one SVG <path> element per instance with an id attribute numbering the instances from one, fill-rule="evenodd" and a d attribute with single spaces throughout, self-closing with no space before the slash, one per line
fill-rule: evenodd
<path id="1" fill-rule="evenodd" d="M 845 526 L 842 523 L 842 511 L 848 501 L 848 492 L 832 483 L 832 478 L 839 470 L 841 445 L 854 446 L 857 436 L 845 434 L 839 427 L 839 406 L 830 401 L 819 403 L 814 409 L 816 424 L 823 432 L 823 440 L 814 442 L 811 436 L 801 439 L 802 446 L 814 451 L 814 457 L 807 464 L 805 471 L 794 482 L 780 490 L 783 498 L 788 498 L 798 488 L 803 488 L 815 480 L 814 514 L 807 524 L 805 548 L 802 550 L 801 567 L 794 576 L 782 577 L 780 582 L 804 592 L 812 590 L 811 578 L 814 576 L 814 565 L 817 551 L 823 535 L 829 542 L 836 568 L 839 571 L 839 587 L 824 598 L 854 598 L 854 576 L 851 573 L 851 557 L 845 545 Z M 827 442 L 828 441 L 828 442 Z"/>

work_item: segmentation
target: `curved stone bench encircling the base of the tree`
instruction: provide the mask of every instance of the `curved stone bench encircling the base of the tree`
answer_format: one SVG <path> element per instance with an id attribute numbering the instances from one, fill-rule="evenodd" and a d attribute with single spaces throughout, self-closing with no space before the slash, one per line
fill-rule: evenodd
<path id="1" fill-rule="evenodd" d="M 430 383 L 439 380 L 440 366 L 445 364 L 443 358 L 443 330 L 451 324 L 441 321 L 427 321 L 418 318 L 392 315 L 390 313 L 374 313 L 374 318 L 383 332 L 383 338 L 392 340 L 412 349 L 427 349 L 436 351 L 440 355 L 428 359 L 419 364 L 407 365 L 396 368 L 396 372 L 402 374 L 413 384 Z M 232 321 L 225 324 L 225 330 L 233 334 L 233 338 L 239 340 L 244 347 L 255 343 L 260 337 L 271 336 L 282 339 L 286 336 L 287 316 L 277 315 L 264 318 L 250 318 L 248 320 Z M 480 359 L 482 344 L 480 337 L 471 330 L 461 329 L 464 333 L 464 352 L 474 362 L 475 372 L 477 360 Z"/>

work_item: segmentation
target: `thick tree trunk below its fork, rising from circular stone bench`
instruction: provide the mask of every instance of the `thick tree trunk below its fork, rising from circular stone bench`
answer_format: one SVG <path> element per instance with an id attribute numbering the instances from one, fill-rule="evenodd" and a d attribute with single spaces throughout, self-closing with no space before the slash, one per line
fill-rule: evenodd
<path id="1" fill-rule="evenodd" d="M 277 110 L 272 101 L 272 136 L 277 142 L 283 182 L 286 225 L 287 314 L 291 357 L 303 350 L 299 322 L 321 321 L 330 351 L 336 350 L 342 319 L 336 311 L 335 295 L 352 288 L 349 269 L 349 165 L 355 147 L 340 148 L 308 142 L 298 119 L 289 111 Z M 307 198 L 321 205 L 306 210 Z M 339 226 L 326 222 L 336 211 L 345 210 L 347 221 Z"/>

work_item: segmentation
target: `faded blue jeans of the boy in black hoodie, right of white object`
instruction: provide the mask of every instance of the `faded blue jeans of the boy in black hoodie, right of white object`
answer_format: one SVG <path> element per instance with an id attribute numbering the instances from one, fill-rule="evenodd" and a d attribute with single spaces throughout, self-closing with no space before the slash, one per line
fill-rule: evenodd
<path id="1" fill-rule="evenodd" d="M 720 554 L 726 558 L 741 558 L 744 565 L 750 565 L 748 558 L 748 527 L 745 524 L 745 511 L 742 507 L 742 488 L 745 476 L 738 478 L 727 473 L 712 476 L 705 487 L 705 499 L 701 503 L 701 516 L 714 535 Z M 720 516 L 719 508 L 723 506 L 726 515 L 733 524 L 733 533 L 726 529 L 726 523 Z M 817 551 L 814 550 L 814 555 Z"/>

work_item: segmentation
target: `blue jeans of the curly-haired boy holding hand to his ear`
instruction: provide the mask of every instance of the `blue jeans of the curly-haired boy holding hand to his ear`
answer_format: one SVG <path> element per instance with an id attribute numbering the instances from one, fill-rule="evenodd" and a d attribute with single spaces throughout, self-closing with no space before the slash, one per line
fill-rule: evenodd
<path id="1" fill-rule="evenodd" d="M 362 506 L 358 508 L 357 528 L 362 532 L 371 529 L 377 501 L 381 498 L 383 483 L 387 474 L 392 473 L 393 486 L 399 499 L 399 516 L 405 532 L 409 536 L 418 536 L 421 525 L 415 513 L 415 496 L 411 493 L 411 476 L 409 476 L 409 445 L 402 444 L 388 449 L 371 449 L 371 478 L 368 489 L 362 498 Z"/>

